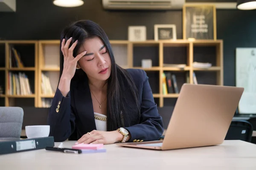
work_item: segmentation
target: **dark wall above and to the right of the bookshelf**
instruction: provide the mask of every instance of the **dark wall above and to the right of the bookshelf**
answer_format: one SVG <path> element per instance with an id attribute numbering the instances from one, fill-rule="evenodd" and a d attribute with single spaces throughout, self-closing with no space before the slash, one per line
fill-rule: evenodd
<path id="1" fill-rule="evenodd" d="M 227 0 L 233 1 L 233 0 Z M 0 12 L 0 40 L 59 39 L 67 24 L 89 19 L 111 40 L 127 40 L 128 26 L 147 27 L 154 39 L 154 24 L 175 24 L 182 39 L 182 11 L 106 11 L 102 0 L 84 0 L 76 8 L 54 6 L 52 0 L 17 0 L 15 13 Z M 189 0 L 192 2 L 192 0 Z M 235 48 L 256 47 L 256 10 L 217 10 L 217 38 L 224 40 L 224 85 L 235 85 Z"/>

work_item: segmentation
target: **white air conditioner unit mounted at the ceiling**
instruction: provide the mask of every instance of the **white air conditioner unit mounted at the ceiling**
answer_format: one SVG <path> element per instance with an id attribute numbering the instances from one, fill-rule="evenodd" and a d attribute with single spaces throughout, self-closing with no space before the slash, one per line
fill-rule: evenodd
<path id="1" fill-rule="evenodd" d="M 185 0 L 102 0 L 103 8 L 116 10 L 182 9 Z"/>

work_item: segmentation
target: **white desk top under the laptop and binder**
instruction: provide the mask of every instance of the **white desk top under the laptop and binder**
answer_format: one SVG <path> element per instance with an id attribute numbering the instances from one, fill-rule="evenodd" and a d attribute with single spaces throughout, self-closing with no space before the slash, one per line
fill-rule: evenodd
<path id="1" fill-rule="evenodd" d="M 71 147 L 75 141 L 63 142 Z M 55 143 L 58 146 L 59 143 Z M 145 150 L 105 145 L 106 153 L 70 154 L 47 150 L 0 155 L 1 170 L 256 170 L 256 144 L 224 141 L 211 147 Z"/>

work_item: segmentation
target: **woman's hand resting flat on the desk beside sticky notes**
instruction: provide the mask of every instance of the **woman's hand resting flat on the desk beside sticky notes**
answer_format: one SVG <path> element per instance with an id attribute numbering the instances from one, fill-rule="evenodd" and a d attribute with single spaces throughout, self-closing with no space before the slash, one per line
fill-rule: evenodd
<path id="1" fill-rule="evenodd" d="M 124 136 L 117 130 L 111 132 L 93 130 L 90 133 L 84 134 L 76 144 L 113 144 L 122 141 L 123 137 Z M 127 140 L 129 140 L 129 138 L 130 136 Z"/>

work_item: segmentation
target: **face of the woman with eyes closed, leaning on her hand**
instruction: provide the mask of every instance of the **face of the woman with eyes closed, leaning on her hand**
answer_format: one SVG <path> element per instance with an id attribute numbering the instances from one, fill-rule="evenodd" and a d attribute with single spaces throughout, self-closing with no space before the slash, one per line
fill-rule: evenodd
<path id="1" fill-rule="evenodd" d="M 79 59 L 79 67 L 91 80 L 107 80 L 111 73 L 111 59 L 102 40 L 99 37 L 85 40 L 78 54 L 81 54 L 84 50 L 87 53 Z"/>

